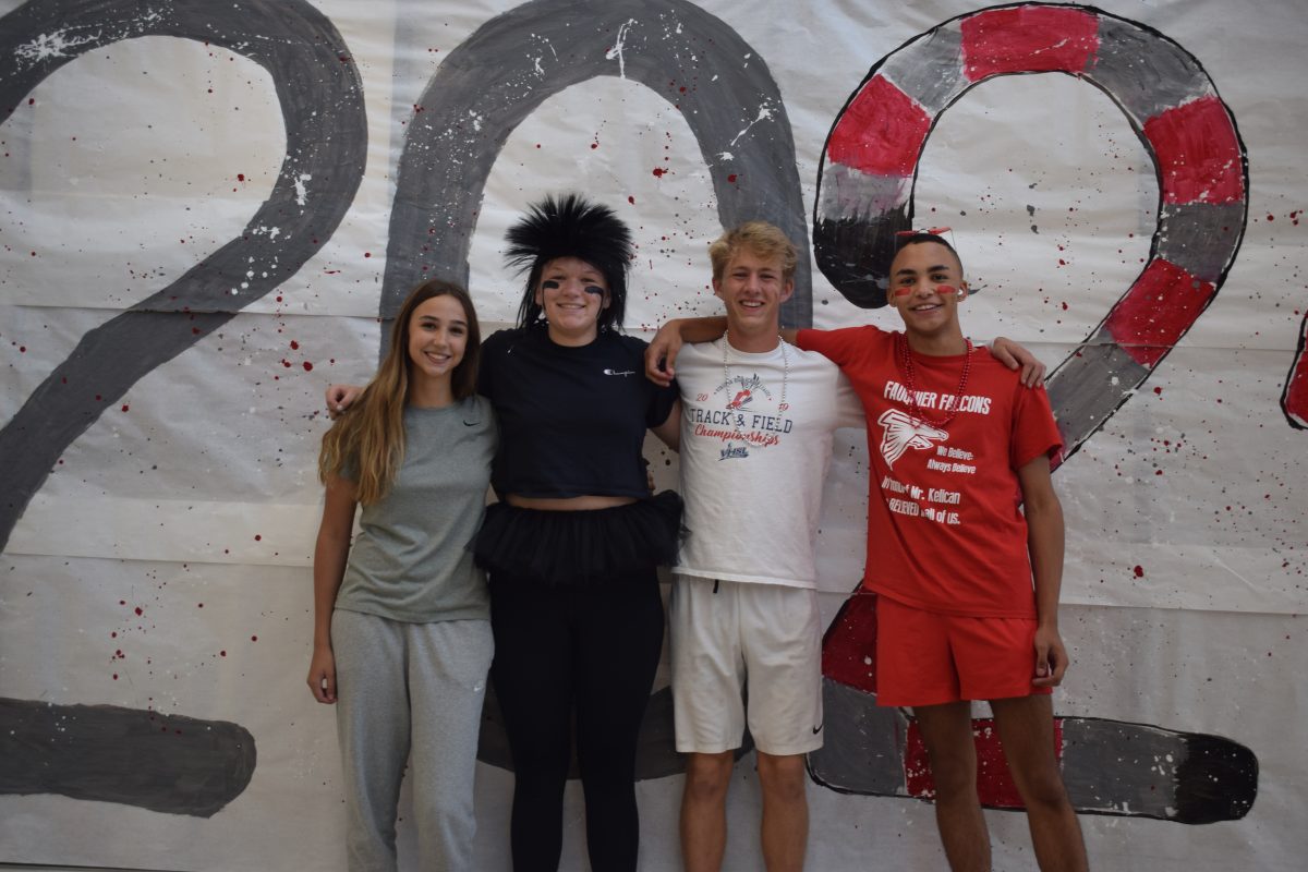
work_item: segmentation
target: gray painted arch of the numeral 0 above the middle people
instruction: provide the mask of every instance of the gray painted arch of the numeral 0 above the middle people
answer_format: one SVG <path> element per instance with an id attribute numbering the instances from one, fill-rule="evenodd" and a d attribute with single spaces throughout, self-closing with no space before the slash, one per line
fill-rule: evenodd
<path id="1" fill-rule="evenodd" d="M 607 56 L 619 43 L 621 55 Z M 761 218 L 797 243 L 807 238 L 781 92 L 759 52 L 730 25 L 685 0 L 534 0 L 479 27 L 422 92 L 391 207 L 383 320 L 425 278 L 467 285 L 483 191 L 509 135 L 564 89 L 620 75 L 667 99 L 685 119 L 709 166 L 722 226 Z M 751 127 L 760 107 L 772 116 Z M 736 182 L 729 180 L 732 174 Z M 574 187 L 600 201 L 613 199 L 587 183 L 577 179 Z M 800 258 L 781 320 L 787 327 L 812 323 L 807 258 Z"/>

